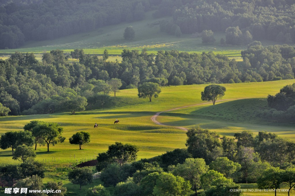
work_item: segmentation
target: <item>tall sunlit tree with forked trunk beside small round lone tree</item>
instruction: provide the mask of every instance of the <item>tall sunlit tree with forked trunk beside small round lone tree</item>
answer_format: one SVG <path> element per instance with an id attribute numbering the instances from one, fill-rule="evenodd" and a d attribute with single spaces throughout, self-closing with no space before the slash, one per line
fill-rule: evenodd
<path id="1" fill-rule="evenodd" d="M 63 143 L 65 141 L 65 138 L 61 136 L 63 128 L 58 123 L 39 122 L 35 125 L 32 132 L 42 140 L 43 145 L 47 145 L 47 152 L 49 152 L 50 144 L 54 146 L 59 142 Z"/>

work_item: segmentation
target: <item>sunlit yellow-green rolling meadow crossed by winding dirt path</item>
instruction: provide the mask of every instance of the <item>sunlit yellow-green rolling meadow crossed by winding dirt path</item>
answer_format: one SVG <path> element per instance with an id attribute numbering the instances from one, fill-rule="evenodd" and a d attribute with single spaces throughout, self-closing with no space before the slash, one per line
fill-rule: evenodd
<path id="1" fill-rule="evenodd" d="M 64 128 L 65 143 L 50 146 L 49 153 L 46 152 L 46 147 L 37 146 L 36 159 L 41 162 L 46 160 L 47 172 L 44 182 L 62 180 L 69 192 L 76 192 L 78 186 L 71 184 L 66 177 L 65 169 L 70 162 L 71 165 L 75 165 L 77 162 L 91 160 L 97 153 L 106 151 L 108 146 L 116 141 L 137 145 L 140 150 L 138 159 L 155 157 L 175 148 L 185 148 L 186 131 L 173 126 L 192 128 L 200 125 L 202 128 L 231 137 L 233 133 L 242 130 L 253 130 L 254 134 L 260 130 L 266 130 L 294 141 L 293 124 L 261 122 L 255 118 L 256 110 L 267 107 L 268 94 L 274 95 L 283 86 L 294 82 L 295 80 L 283 80 L 222 84 L 227 88 L 222 98 L 224 101 L 214 106 L 212 103 L 207 103 L 162 113 L 157 119 L 165 123 L 165 126 L 155 125 L 150 119 L 151 116 L 180 106 L 206 103 L 200 96 L 206 85 L 164 87 L 159 97 L 153 98 L 152 102 L 138 98 L 137 89 L 127 89 L 116 93 L 117 96 L 113 97 L 115 107 L 105 110 L 77 112 L 76 115 L 56 113 L 0 117 L 0 134 L 10 130 L 21 130 L 30 120 L 59 123 Z M 116 118 L 120 120 L 119 124 L 114 124 Z M 95 123 L 99 124 L 99 128 L 93 128 Z M 77 145 L 69 144 L 68 138 L 81 130 L 90 133 L 91 142 L 82 145 L 83 149 L 78 150 Z M 19 163 L 12 160 L 11 149 L 0 150 L 0 162 L 1 164 Z M 81 192 L 69 195 L 81 195 L 88 187 L 97 184 L 99 180 L 92 185 L 82 187 Z"/>

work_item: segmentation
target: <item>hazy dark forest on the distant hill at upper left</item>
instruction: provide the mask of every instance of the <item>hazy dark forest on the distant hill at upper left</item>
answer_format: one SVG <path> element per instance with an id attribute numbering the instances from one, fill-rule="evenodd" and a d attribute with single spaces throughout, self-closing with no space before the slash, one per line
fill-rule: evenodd
<path id="1" fill-rule="evenodd" d="M 110 24 L 137 21 L 150 10 L 148 0 L 4 1 L 0 4 L 0 47 L 92 31 Z"/>

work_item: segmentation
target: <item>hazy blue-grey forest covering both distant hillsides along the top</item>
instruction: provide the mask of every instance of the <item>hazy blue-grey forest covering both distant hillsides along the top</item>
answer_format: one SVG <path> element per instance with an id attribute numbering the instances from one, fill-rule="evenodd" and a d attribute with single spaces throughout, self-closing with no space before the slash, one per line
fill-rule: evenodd
<path id="1" fill-rule="evenodd" d="M 237 27 L 254 40 L 295 42 L 293 0 L 35 0 L 0 1 L 0 47 L 48 40 L 121 22 L 138 21 L 154 10 L 172 16 L 165 31 L 196 33 Z M 169 26 L 168 26 L 169 27 Z"/>

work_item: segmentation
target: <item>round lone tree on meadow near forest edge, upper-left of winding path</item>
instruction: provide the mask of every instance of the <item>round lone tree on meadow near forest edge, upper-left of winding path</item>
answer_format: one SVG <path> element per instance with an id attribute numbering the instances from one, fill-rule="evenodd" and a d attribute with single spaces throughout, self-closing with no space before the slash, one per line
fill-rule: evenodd
<path id="1" fill-rule="evenodd" d="M 161 92 L 159 84 L 152 82 L 143 83 L 142 85 L 138 86 L 137 90 L 139 98 L 148 97 L 150 99 L 150 102 L 152 101 L 153 96 L 157 98 L 159 96 L 159 93 Z"/>

